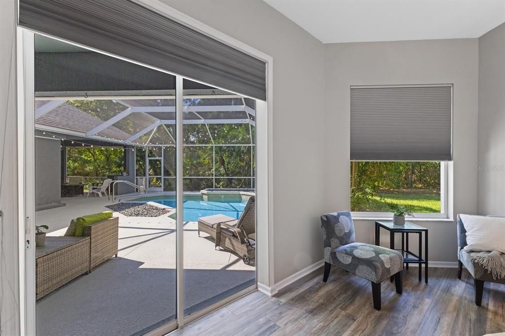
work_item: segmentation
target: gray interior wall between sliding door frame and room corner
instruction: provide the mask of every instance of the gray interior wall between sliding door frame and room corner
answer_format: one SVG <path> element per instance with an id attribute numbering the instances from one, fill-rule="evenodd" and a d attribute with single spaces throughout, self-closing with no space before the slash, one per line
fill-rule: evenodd
<path id="1" fill-rule="evenodd" d="M 163 2 L 274 58 L 275 282 L 320 261 L 319 216 L 328 209 L 323 44 L 260 0 Z"/>

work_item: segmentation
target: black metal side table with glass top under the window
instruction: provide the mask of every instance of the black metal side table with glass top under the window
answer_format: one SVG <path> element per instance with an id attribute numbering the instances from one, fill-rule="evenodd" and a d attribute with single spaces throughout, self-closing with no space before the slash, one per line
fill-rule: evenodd
<path id="1" fill-rule="evenodd" d="M 409 263 L 419 264 L 419 281 L 422 279 L 422 265 L 424 264 L 424 282 L 428 283 L 428 229 L 415 225 L 409 221 L 405 226 L 393 225 L 392 221 L 375 222 L 375 245 L 380 245 L 380 228 L 389 231 L 389 248 L 399 251 L 403 255 L 403 262 L 409 269 Z M 423 259 L 423 232 L 424 232 L 424 259 Z M 394 234 L 401 233 L 401 249 L 394 248 Z M 419 235 L 419 253 L 416 255 L 409 250 L 409 234 Z M 391 282 L 393 276 L 391 276 Z"/>

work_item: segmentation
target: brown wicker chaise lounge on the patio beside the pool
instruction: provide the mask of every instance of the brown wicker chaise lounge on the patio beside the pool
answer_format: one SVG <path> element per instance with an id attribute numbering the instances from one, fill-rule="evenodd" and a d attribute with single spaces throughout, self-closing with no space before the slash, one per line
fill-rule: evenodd
<path id="1" fill-rule="evenodd" d="M 245 264 L 256 259 L 256 202 L 251 196 L 240 218 L 223 214 L 198 218 L 198 236 L 201 232 L 214 238 L 216 247 L 238 254 Z"/>

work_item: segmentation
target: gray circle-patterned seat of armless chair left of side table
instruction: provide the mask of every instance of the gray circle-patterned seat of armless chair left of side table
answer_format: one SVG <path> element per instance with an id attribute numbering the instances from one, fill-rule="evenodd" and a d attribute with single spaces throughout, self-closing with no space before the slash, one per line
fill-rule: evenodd
<path id="1" fill-rule="evenodd" d="M 403 269 L 400 252 L 365 243 L 337 247 L 328 257 L 332 265 L 377 284 Z"/>

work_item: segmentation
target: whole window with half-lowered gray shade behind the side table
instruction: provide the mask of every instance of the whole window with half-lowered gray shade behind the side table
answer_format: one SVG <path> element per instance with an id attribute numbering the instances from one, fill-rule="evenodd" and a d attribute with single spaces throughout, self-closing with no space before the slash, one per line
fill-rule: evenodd
<path id="1" fill-rule="evenodd" d="M 452 160 L 452 85 L 350 87 L 350 208 L 390 217 L 446 217 L 446 162 Z"/>

